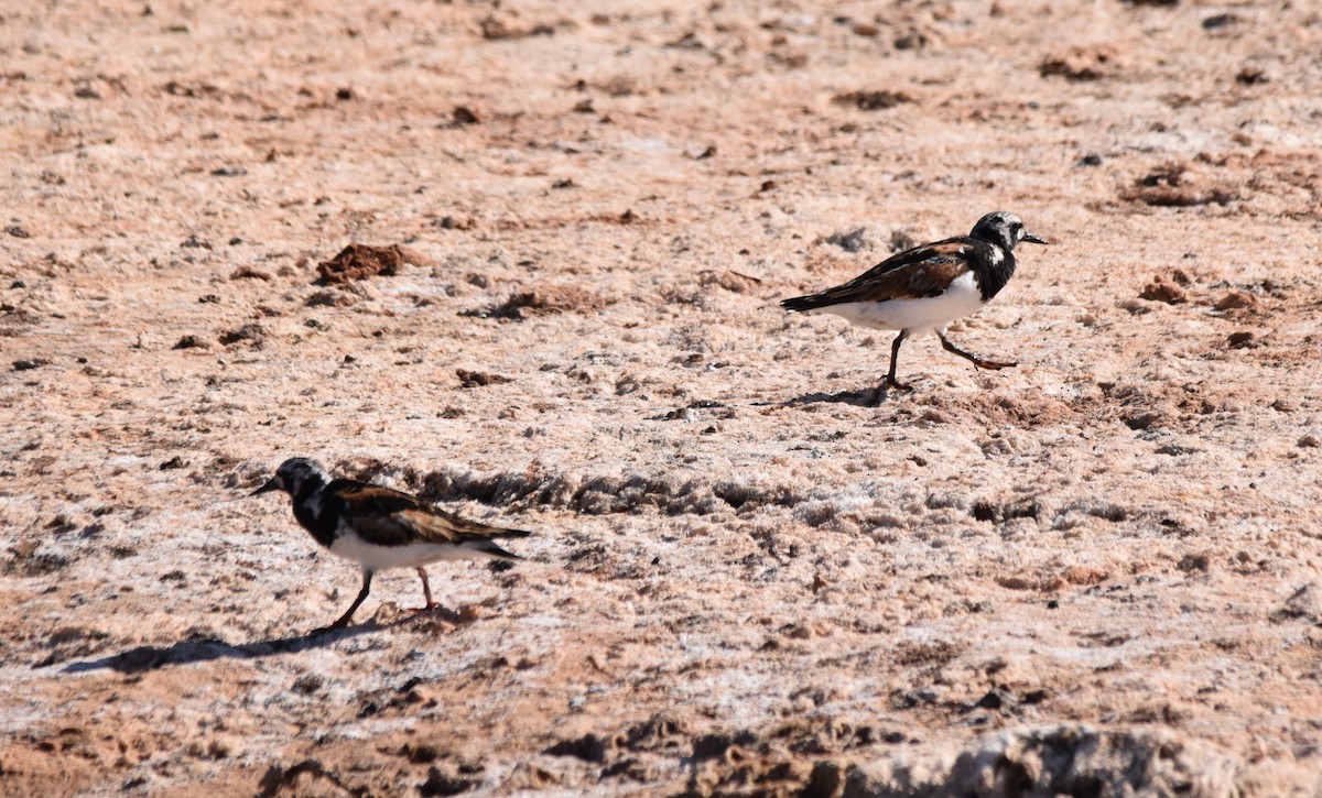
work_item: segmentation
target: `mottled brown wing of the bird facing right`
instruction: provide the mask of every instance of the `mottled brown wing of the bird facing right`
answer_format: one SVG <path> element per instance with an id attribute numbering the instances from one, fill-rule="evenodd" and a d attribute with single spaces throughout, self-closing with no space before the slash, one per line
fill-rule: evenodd
<path id="1" fill-rule="evenodd" d="M 781 304 L 791 310 L 810 310 L 842 303 L 940 296 L 951 281 L 969 271 L 972 255 L 973 244 L 960 238 L 923 244 L 887 258 L 843 285 Z"/>

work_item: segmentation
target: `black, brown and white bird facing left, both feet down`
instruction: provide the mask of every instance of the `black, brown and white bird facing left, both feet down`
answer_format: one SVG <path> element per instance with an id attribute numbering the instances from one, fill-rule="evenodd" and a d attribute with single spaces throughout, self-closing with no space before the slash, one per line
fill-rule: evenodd
<path id="1" fill-rule="evenodd" d="M 250 495 L 283 490 L 293 499 L 293 517 L 317 543 L 362 568 L 362 589 L 340 618 L 319 629 L 349 625 L 354 610 L 371 591 L 371 577 L 386 568 L 415 568 L 422 577 L 426 606 L 435 609 L 423 565 L 442 560 L 520 560 L 494 543 L 500 538 L 526 538 L 526 530 L 506 530 L 446 513 L 423 499 L 356 480 L 330 480 L 315 460 L 291 457 L 275 476 Z"/>

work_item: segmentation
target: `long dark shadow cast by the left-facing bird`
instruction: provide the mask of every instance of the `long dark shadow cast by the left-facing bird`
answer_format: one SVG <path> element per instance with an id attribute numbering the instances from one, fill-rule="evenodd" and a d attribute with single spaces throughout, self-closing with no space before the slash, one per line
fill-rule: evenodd
<path id="1" fill-rule="evenodd" d="M 344 629 L 317 629 L 305 634 L 254 641 L 250 643 L 227 643 L 219 639 L 184 639 L 168 646 L 136 646 L 119 654 L 100 659 L 70 662 L 61 672 L 81 674 L 95 670 L 115 670 L 122 674 L 141 674 L 176 665 L 210 662 L 213 659 L 260 659 L 276 654 L 296 654 L 308 649 L 320 649 L 360 634 L 379 632 L 394 624 L 361 624 Z"/>

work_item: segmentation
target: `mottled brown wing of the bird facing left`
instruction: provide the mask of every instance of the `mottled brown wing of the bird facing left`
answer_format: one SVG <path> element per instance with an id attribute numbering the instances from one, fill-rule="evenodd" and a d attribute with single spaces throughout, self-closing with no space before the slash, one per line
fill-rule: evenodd
<path id="1" fill-rule="evenodd" d="M 493 538 L 522 538 L 524 530 L 505 530 L 432 507 L 415 495 L 342 480 L 332 495 L 341 502 L 341 517 L 364 539 L 378 546 L 405 546 L 407 543 L 469 543 Z"/>

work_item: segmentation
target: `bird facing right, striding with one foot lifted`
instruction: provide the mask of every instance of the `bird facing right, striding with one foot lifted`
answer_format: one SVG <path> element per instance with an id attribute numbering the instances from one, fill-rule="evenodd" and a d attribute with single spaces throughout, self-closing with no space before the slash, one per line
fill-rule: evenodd
<path id="1" fill-rule="evenodd" d="M 947 351 L 977 367 L 1009 369 L 1017 363 L 964 351 L 945 337 L 945 326 L 976 313 L 1005 288 L 1014 275 L 1014 247 L 1021 242 L 1050 243 L 1025 230 L 1019 217 L 998 210 L 978 219 L 968 235 L 898 252 L 843 285 L 780 304 L 791 312 L 824 310 L 859 326 L 899 330 L 891 344 L 888 387 L 908 390 L 895 379 L 900 344 L 923 333 L 936 333 Z"/>

